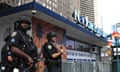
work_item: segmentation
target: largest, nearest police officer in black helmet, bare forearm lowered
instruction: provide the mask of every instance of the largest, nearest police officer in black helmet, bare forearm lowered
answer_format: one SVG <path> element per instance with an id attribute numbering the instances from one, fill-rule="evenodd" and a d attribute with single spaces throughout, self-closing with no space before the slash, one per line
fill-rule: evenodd
<path id="1" fill-rule="evenodd" d="M 31 20 L 22 16 L 15 22 L 15 31 L 9 40 L 12 52 L 12 64 L 19 69 L 19 72 L 35 72 L 36 47 L 27 31 L 31 28 Z"/>

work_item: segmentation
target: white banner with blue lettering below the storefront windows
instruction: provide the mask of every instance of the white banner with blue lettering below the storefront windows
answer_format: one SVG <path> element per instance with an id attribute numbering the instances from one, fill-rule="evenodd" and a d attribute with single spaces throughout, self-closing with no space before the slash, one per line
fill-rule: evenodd
<path id="1" fill-rule="evenodd" d="M 77 62 L 96 61 L 95 54 L 81 51 L 67 50 L 67 60 Z"/>

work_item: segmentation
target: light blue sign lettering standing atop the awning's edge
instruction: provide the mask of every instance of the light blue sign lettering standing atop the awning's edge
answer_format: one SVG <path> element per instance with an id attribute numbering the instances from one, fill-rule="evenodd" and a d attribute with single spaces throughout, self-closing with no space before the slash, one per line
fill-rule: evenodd
<path id="1" fill-rule="evenodd" d="M 103 34 L 105 34 L 101 28 L 98 28 L 95 24 L 91 23 L 87 16 L 80 16 L 77 9 L 73 11 L 72 17 L 77 24 L 88 28 L 91 32 L 96 33 L 97 36 L 103 36 Z"/>

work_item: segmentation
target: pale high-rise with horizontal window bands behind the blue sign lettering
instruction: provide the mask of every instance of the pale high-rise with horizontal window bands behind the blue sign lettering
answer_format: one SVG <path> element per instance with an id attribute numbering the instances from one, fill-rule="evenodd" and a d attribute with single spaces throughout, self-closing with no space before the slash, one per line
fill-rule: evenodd
<path id="1" fill-rule="evenodd" d="M 80 15 L 87 16 L 90 22 L 102 28 L 100 0 L 80 0 Z"/>

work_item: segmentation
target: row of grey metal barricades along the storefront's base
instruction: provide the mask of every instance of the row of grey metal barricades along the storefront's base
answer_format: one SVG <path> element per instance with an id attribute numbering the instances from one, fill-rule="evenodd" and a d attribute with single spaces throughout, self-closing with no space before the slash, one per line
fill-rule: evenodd
<path id="1" fill-rule="evenodd" d="M 63 62 L 62 72 L 111 72 L 111 65 L 103 62 Z"/>

